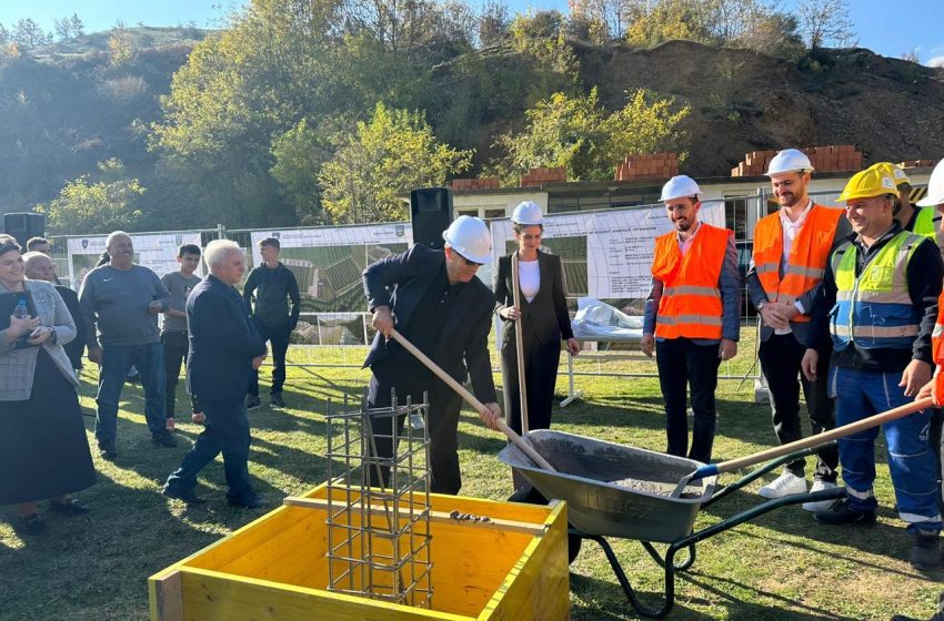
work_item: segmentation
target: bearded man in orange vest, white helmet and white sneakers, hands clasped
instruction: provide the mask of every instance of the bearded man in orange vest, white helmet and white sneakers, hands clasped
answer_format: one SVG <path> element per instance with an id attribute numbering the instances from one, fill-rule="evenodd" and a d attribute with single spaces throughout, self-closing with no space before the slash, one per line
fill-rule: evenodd
<path id="1" fill-rule="evenodd" d="M 800 363 L 810 346 L 810 319 L 830 253 L 851 231 L 843 212 L 815 204 L 807 195 L 813 166 L 796 149 L 784 149 L 771 160 L 766 175 L 781 208 L 760 220 L 754 228 L 754 255 L 747 273 L 747 295 L 761 316 L 761 369 L 771 396 L 774 431 L 780 444 L 802 438 L 800 388 L 813 434 L 835 425 L 833 403 L 826 394 L 828 356 L 823 353 L 816 379 L 801 376 Z M 838 455 L 820 452 L 811 491 L 835 487 Z M 796 459 L 783 474 L 762 487 L 765 498 L 806 491 L 805 460 Z M 828 502 L 804 502 L 807 511 Z"/>

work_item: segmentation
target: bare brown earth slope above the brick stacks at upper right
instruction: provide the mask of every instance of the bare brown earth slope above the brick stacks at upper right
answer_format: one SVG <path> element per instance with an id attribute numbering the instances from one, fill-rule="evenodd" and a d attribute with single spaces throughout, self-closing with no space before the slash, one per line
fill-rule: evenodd
<path id="1" fill-rule="evenodd" d="M 673 41 L 584 50 L 582 60 L 604 104 L 644 86 L 692 106 L 690 174 L 727 175 L 745 152 L 784 145 L 855 144 L 871 162 L 944 155 L 944 72 L 868 50 L 828 50 L 797 64 Z"/>

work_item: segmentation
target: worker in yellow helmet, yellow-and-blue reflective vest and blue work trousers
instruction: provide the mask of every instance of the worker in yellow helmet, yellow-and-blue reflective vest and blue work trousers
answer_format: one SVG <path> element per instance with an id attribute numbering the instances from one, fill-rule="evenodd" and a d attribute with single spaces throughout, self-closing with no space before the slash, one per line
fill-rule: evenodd
<path id="1" fill-rule="evenodd" d="M 856 173 L 840 202 L 853 234 L 830 257 L 814 309 L 814 348 L 803 370 L 816 376 L 817 350 L 832 340 L 830 390 L 836 424 L 848 425 L 914 398 L 931 379 L 931 336 L 944 262 L 927 237 L 902 231 L 894 218 L 898 191 L 880 170 Z M 883 426 L 898 516 L 913 536 L 908 561 L 930 570 L 941 561 L 937 462 L 928 445 L 931 411 Z M 816 511 L 822 523 L 875 521 L 875 428 L 840 438 L 846 496 Z"/>

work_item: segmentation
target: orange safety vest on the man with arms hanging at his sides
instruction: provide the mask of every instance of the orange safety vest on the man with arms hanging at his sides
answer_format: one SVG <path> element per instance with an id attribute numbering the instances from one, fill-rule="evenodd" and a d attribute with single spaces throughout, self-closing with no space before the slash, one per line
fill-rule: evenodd
<path id="1" fill-rule="evenodd" d="M 663 283 L 655 316 L 655 336 L 721 338 L 723 308 L 717 279 L 733 235 L 704 222 L 682 256 L 675 232 L 655 240 L 652 275 Z"/>

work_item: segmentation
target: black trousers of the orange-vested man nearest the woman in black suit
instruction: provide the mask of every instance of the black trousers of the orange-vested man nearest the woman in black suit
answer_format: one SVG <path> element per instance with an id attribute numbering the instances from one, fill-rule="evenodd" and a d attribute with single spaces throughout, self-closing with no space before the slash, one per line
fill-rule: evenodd
<path id="1" fill-rule="evenodd" d="M 696 345 L 690 338 L 664 338 L 655 342 L 659 384 L 665 400 L 665 432 L 669 455 L 689 457 L 707 464 L 714 444 L 717 388 L 719 346 Z M 687 389 L 692 390 L 692 449 L 689 446 Z"/>

